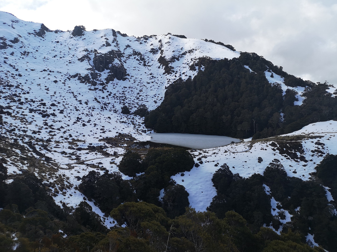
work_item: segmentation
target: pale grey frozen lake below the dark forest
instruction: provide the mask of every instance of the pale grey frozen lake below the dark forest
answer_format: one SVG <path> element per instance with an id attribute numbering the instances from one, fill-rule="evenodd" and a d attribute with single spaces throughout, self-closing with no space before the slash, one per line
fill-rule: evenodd
<path id="1" fill-rule="evenodd" d="M 150 142 L 159 144 L 170 144 L 187 147 L 191 149 L 210 149 L 219 146 L 241 142 L 240 139 L 228 136 L 182 134 L 182 133 L 153 133 L 150 134 Z"/>

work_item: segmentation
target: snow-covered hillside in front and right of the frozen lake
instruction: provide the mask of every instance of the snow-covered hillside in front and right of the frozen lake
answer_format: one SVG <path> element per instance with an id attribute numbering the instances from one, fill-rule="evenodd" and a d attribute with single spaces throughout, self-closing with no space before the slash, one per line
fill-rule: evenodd
<path id="1" fill-rule="evenodd" d="M 226 163 L 233 174 L 248 178 L 254 173 L 263 174 L 269 163 L 278 159 L 289 177 L 306 181 L 327 154 L 337 155 L 336 141 L 337 122 L 328 121 L 286 135 L 257 141 L 246 139 L 243 143 L 198 150 L 192 154 L 200 166 L 184 172 L 183 177 L 177 174 L 173 179 L 189 192 L 193 207 L 206 211 L 216 195 L 211 179 L 220 165 Z"/>

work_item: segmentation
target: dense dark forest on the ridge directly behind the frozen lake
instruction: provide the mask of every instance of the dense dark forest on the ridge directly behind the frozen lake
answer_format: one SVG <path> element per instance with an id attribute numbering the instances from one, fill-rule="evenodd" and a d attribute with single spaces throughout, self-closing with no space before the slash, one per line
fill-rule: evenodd
<path id="1" fill-rule="evenodd" d="M 337 103 L 327 93 L 326 83 L 305 82 L 254 53 L 203 62 L 207 62 L 205 70 L 193 80 L 179 79 L 167 88 L 162 104 L 145 117 L 146 127 L 157 132 L 263 138 L 337 118 Z M 297 93 L 291 89 L 283 96 L 279 84 L 267 81 L 265 71 L 283 76 L 289 87 L 307 87 L 303 105 L 294 105 Z"/>

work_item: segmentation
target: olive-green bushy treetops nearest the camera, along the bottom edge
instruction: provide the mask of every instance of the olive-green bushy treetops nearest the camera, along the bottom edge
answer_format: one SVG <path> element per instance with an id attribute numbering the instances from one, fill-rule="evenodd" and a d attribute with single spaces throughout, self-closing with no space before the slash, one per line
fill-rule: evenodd
<path id="1" fill-rule="evenodd" d="M 57 231 L 60 223 L 51 221 L 47 212 L 33 210 L 33 213 L 21 215 L 4 209 L 0 211 L 0 249 L 27 252 L 281 251 L 275 248 L 282 248 L 282 251 L 323 251 L 301 243 L 300 235 L 291 230 L 278 235 L 261 227 L 253 233 L 246 220 L 234 211 L 219 219 L 212 212 L 187 208 L 184 215 L 170 219 L 153 204 L 128 202 L 111 214 L 125 227 L 116 227 L 109 232 L 88 230 L 64 237 Z M 30 228 L 27 228 L 28 223 Z"/>

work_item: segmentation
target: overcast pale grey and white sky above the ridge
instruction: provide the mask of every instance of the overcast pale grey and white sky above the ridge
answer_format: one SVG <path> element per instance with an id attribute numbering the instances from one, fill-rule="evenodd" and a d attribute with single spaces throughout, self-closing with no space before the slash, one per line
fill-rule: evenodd
<path id="1" fill-rule="evenodd" d="M 335 0 L 0 0 L 0 10 L 52 30 L 83 25 L 136 37 L 213 39 L 337 87 Z"/>

